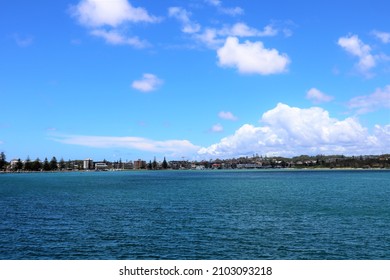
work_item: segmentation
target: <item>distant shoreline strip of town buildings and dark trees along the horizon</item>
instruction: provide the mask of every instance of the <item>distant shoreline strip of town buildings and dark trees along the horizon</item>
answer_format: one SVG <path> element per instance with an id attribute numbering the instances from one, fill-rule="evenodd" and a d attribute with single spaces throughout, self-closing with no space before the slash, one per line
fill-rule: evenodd
<path id="1" fill-rule="evenodd" d="M 4 152 L 0 153 L 0 172 L 48 172 L 48 171 L 121 171 L 121 170 L 206 170 L 206 169 L 282 169 L 282 168 L 359 168 L 390 169 L 390 154 L 383 155 L 300 155 L 292 158 L 267 157 L 252 155 L 232 159 L 215 159 L 202 161 L 189 160 L 153 160 L 137 159 L 134 161 L 94 161 L 83 160 L 50 160 L 39 158 L 31 160 L 6 160 Z"/>

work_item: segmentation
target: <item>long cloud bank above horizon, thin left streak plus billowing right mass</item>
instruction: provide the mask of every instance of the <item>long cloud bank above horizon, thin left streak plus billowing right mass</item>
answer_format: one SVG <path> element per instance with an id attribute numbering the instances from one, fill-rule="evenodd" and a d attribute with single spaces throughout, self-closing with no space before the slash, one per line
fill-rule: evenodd
<path id="1" fill-rule="evenodd" d="M 355 118 L 338 120 L 320 107 L 298 108 L 278 103 L 265 112 L 260 126 L 244 124 L 218 143 L 201 147 L 189 140 L 152 140 L 142 137 L 53 135 L 63 144 L 94 148 L 125 148 L 193 159 L 231 158 L 253 154 L 380 154 L 390 143 L 390 125 L 375 125 L 370 133 Z M 223 132 L 220 124 L 214 132 Z"/>

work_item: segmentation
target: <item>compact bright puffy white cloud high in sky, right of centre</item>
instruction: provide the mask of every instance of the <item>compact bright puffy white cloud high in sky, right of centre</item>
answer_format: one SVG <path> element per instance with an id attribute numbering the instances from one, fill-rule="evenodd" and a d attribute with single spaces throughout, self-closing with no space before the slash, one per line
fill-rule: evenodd
<path id="1" fill-rule="evenodd" d="M 217 50 L 221 67 L 234 67 L 240 73 L 270 75 L 287 71 L 290 59 L 276 49 L 266 49 L 262 42 L 245 41 L 228 37 L 223 47 Z"/>

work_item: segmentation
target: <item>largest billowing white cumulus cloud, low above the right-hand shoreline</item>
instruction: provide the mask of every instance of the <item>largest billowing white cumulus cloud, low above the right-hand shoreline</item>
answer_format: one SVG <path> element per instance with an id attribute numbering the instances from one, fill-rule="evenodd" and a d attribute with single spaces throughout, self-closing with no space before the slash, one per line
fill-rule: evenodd
<path id="1" fill-rule="evenodd" d="M 254 153 L 294 156 L 389 152 L 390 125 L 376 126 L 370 135 L 356 119 L 331 118 L 319 107 L 301 109 L 279 103 L 263 114 L 261 122 L 263 126 L 241 126 L 233 135 L 201 148 L 198 154 L 237 157 Z"/>

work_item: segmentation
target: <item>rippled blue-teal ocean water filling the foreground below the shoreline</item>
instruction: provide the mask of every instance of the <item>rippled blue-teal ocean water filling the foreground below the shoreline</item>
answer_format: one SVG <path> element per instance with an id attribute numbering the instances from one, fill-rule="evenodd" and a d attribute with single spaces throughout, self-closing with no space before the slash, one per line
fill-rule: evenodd
<path id="1" fill-rule="evenodd" d="M 0 174 L 0 259 L 390 259 L 390 172 Z"/>

